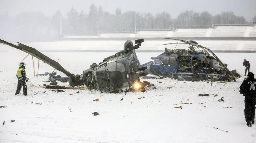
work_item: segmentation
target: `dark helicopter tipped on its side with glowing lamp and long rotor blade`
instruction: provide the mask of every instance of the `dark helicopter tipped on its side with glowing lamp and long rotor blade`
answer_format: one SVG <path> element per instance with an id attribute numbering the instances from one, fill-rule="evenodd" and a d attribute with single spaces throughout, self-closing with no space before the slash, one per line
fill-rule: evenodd
<path id="1" fill-rule="evenodd" d="M 74 75 L 35 48 L 19 42 L 18 45 L 14 45 L 0 39 L 0 43 L 24 51 L 66 74 L 72 87 L 87 85 L 88 89 L 109 93 L 129 92 L 144 87 L 145 84 L 140 82 L 139 77 L 148 73 L 144 71 L 146 67 L 138 67 L 135 53 L 135 49 L 140 48 L 142 42 L 144 39 L 138 39 L 135 40 L 136 45 L 133 45 L 133 42 L 128 40 L 124 43 L 124 50 L 105 58 L 99 65 L 93 63 L 82 74 Z"/>

